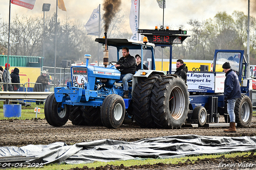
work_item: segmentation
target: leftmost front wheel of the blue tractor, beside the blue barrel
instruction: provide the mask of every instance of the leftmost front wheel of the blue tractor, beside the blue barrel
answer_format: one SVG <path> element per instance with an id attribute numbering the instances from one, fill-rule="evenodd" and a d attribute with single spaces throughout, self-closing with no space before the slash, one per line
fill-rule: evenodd
<path id="1" fill-rule="evenodd" d="M 49 125 L 54 127 L 60 127 L 67 123 L 69 116 L 69 108 L 64 105 L 61 108 L 62 103 L 56 102 L 54 93 L 51 93 L 46 98 L 44 103 L 44 115 Z"/>

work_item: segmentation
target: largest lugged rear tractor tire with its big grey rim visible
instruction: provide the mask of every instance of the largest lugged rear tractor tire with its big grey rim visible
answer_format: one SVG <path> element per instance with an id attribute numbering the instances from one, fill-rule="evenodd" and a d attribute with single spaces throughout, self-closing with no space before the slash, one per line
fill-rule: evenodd
<path id="1" fill-rule="evenodd" d="M 181 128 L 188 118 L 189 93 L 177 75 L 157 79 L 152 90 L 151 109 L 157 128 Z"/>

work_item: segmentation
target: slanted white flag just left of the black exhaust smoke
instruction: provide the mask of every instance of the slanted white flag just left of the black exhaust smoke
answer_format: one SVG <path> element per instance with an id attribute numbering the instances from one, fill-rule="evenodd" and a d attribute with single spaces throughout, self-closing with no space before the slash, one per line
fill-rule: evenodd
<path id="1" fill-rule="evenodd" d="M 87 34 L 98 36 L 99 35 L 99 22 L 100 22 L 100 5 L 94 9 L 90 19 L 85 24 Z"/>

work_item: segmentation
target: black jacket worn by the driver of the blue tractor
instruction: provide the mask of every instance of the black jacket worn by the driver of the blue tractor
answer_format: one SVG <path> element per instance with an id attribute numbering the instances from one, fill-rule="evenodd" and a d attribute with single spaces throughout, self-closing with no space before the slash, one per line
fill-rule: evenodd
<path id="1" fill-rule="evenodd" d="M 128 56 L 126 58 L 121 57 L 118 60 L 118 63 L 121 63 L 124 65 L 124 66 L 120 65 L 120 67 L 116 68 L 116 69 L 120 69 L 121 74 L 128 74 L 128 73 L 135 74 L 136 61 L 132 55 L 128 54 Z"/>

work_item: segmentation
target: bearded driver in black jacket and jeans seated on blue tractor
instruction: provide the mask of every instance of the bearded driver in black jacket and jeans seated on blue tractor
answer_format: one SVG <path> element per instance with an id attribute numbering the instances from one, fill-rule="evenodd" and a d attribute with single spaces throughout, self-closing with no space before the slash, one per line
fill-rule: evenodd
<path id="1" fill-rule="evenodd" d="M 132 80 L 132 76 L 136 72 L 136 62 L 135 58 L 130 55 L 129 49 L 127 47 L 122 48 L 122 57 L 116 63 L 116 69 L 121 72 L 120 80 L 123 82 L 124 86 L 124 99 L 128 98 L 128 81 Z"/>

